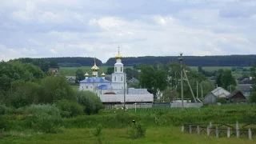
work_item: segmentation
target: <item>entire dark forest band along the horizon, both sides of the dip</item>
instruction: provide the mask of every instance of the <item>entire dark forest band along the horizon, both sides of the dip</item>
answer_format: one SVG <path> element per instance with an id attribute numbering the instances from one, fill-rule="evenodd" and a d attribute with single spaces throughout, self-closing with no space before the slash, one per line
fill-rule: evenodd
<path id="1" fill-rule="evenodd" d="M 122 58 L 122 63 L 125 66 L 134 66 L 134 64 L 154 65 L 155 63 L 162 63 L 166 65 L 169 62 L 178 62 L 178 56 L 166 57 L 126 57 Z M 25 63 L 33 63 L 48 70 L 49 66 L 61 67 L 79 67 L 79 66 L 93 66 L 94 58 L 88 57 L 62 57 L 62 58 L 18 58 L 14 61 L 21 61 Z M 106 63 L 96 58 L 97 66 L 114 66 L 115 58 L 109 58 Z M 187 66 L 254 66 L 256 65 L 256 55 L 223 55 L 223 56 L 183 56 L 183 62 Z"/>

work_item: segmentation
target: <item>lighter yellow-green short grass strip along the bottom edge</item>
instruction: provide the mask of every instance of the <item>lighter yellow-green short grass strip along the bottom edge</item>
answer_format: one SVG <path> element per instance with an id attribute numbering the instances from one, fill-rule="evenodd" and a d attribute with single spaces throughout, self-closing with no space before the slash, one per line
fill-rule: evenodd
<path id="1" fill-rule="evenodd" d="M 66 129 L 59 134 L 19 134 L 14 137 L 0 137 L 2 144 L 80 144 L 100 143 L 94 137 L 94 129 Z M 126 129 L 104 129 L 102 143 L 178 143 L 178 144 L 216 144 L 216 143 L 254 143 L 246 138 L 214 138 L 206 135 L 182 133 L 181 127 L 151 127 L 146 130 L 145 138 L 131 139 L 126 134 Z"/>

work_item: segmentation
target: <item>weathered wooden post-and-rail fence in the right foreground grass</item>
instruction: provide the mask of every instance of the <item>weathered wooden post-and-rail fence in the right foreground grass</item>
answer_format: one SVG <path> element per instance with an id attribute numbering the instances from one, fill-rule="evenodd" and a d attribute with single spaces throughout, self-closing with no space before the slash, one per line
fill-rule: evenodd
<path id="1" fill-rule="evenodd" d="M 182 124 L 182 131 L 190 134 L 207 134 L 208 136 L 256 138 L 256 122 Z"/>

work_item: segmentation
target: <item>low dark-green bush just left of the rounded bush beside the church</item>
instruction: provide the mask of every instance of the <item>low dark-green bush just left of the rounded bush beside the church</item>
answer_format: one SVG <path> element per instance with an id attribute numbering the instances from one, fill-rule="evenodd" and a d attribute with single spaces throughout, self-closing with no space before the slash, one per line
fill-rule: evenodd
<path id="1" fill-rule="evenodd" d="M 78 102 L 62 99 L 57 102 L 57 107 L 61 110 L 62 118 L 72 118 L 83 114 L 83 107 Z"/>

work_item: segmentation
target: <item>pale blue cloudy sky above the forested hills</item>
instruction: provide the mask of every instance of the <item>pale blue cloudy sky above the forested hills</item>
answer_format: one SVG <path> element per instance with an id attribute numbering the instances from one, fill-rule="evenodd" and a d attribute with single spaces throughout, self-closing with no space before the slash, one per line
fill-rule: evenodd
<path id="1" fill-rule="evenodd" d="M 256 54 L 256 0 L 0 0 L 0 60 Z"/>

